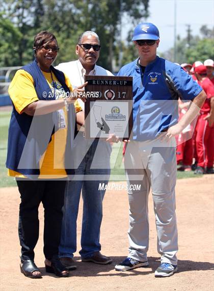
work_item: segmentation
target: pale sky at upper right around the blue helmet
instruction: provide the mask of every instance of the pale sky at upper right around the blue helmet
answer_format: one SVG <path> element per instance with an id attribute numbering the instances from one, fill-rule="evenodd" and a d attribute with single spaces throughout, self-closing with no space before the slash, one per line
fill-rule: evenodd
<path id="1" fill-rule="evenodd" d="M 147 22 L 157 26 L 160 33 L 158 52 L 174 46 L 174 7 L 176 2 L 176 35 L 186 36 L 186 25 L 190 24 L 193 35 L 199 35 L 202 25 L 214 26 L 214 0 L 150 0 Z M 128 21 L 123 20 L 123 32 L 128 30 Z"/>

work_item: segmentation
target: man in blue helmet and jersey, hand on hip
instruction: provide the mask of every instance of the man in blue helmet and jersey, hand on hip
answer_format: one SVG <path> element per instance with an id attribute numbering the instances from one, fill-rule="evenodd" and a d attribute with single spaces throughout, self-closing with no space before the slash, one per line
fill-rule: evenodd
<path id="1" fill-rule="evenodd" d="M 140 23 L 133 32 L 139 57 L 124 65 L 118 76 L 133 77 L 132 140 L 125 151 L 129 199 L 129 254 L 117 271 L 148 266 L 148 194 L 152 189 L 161 264 L 155 277 L 177 271 L 178 241 L 175 215 L 176 142 L 178 135 L 198 115 L 206 99 L 203 89 L 181 66 L 156 55 L 159 31 Z M 178 99 L 191 106 L 178 122 Z M 138 187 L 131 187 L 138 184 Z M 133 188 L 138 190 L 133 190 Z"/>

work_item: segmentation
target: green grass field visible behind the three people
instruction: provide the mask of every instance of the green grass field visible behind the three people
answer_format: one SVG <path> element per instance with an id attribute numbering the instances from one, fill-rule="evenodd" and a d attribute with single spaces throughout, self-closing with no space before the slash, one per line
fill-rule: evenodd
<path id="1" fill-rule="evenodd" d="M 7 169 L 5 167 L 6 156 L 7 156 L 7 142 L 8 142 L 8 126 L 10 122 L 9 111 L 0 111 L 0 186 L 1 187 L 11 187 L 16 186 L 13 177 L 7 175 Z M 110 181 L 125 181 L 125 171 L 124 164 L 122 161 L 122 143 L 114 144 L 112 155 L 111 155 L 111 177 Z M 177 178 L 190 178 L 190 177 L 199 177 L 200 175 L 194 175 L 193 171 L 191 172 L 178 172 Z"/>

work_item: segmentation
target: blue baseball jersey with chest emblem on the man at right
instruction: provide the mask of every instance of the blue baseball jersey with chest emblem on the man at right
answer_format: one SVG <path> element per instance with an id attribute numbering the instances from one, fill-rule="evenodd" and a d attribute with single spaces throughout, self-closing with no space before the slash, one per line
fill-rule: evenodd
<path id="1" fill-rule="evenodd" d="M 181 66 L 158 56 L 144 73 L 138 63 L 124 65 L 118 76 L 133 77 L 133 140 L 145 141 L 178 122 L 178 98 L 193 100 L 202 88 Z"/>

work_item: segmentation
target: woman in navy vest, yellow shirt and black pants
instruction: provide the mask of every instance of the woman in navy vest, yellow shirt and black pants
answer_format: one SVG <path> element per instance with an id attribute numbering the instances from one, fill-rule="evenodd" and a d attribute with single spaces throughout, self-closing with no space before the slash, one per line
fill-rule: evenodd
<path id="1" fill-rule="evenodd" d="M 39 238 L 38 207 L 42 202 L 46 272 L 67 277 L 69 271 L 59 260 L 58 245 L 75 113 L 82 118 L 82 109 L 70 95 L 69 79 L 51 65 L 59 51 L 56 37 L 47 31 L 38 33 L 33 50 L 35 60 L 16 72 L 9 87 L 13 111 L 6 166 L 8 174 L 16 177 L 21 198 L 20 269 L 30 278 L 42 276 L 34 262 Z M 76 89 L 76 97 L 85 85 Z"/>

